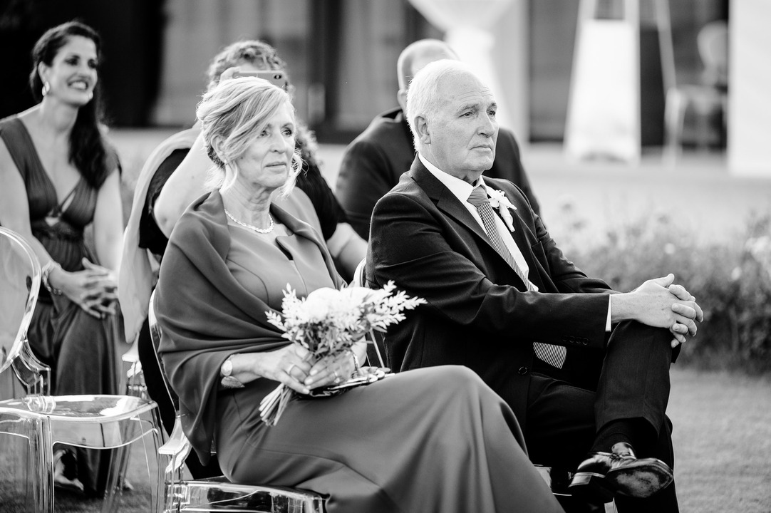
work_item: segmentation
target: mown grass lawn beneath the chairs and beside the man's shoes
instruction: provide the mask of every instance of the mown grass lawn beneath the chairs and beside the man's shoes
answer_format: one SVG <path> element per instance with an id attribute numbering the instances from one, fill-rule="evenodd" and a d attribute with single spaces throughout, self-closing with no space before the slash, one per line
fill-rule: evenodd
<path id="1" fill-rule="evenodd" d="M 683 513 L 771 511 L 771 379 L 675 368 L 668 413 Z M 147 513 L 149 481 L 138 445 L 129 479 L 135 490 L 123 494 L 120 511 Z M 0 510 L 22 511 L 3 498 L 5 490 L 0 482 Z M 56 511 L 96 512 L 100 506 L 66 491 L 56 495 Z"/>

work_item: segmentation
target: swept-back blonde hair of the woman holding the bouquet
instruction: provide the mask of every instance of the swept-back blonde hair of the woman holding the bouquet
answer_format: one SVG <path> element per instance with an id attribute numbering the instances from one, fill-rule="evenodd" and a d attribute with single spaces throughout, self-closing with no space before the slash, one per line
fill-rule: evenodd
<path id="1" fill-rule="evenodd" d="M 206 180 L 209 190 L 231 187 L 238 174 L 235 160 L 244 155 L 269 118 L 287 104 L 291 106 L 291 100 L 283 89 L 255 77 L 224 80 L 204 94 L 196 116 L 207 155 L 214 162 Z M 294 115 L 294 107 L 291 112 Z M 295 186 L 301 165 L 300 154 L 295 150 L 291 172 L 281 186 L 282 196 Z"/>

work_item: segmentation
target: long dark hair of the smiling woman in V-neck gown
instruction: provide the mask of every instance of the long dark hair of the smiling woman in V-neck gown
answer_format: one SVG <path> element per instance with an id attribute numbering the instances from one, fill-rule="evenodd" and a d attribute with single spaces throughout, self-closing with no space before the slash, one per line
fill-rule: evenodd
<path id="1" fill-rule="evenodd" d="M 51 66 L 59 49 L 65 46 L 70 38 L 79 35 L 91 39 L 96 46 L 97 62 L 101 60 L 102 40 L 94 29 L 81 22 L 66 22 L 45 31 L 40 36 L 35 48 L 32 49 L 32 72 L 29 73 L 29 86 L 35 100 L 42 101 L 42 79 L 38 73 L 38 65 L 42 62 Z M 93 89 L 93 98 L 78 109 L 75 125 L 69 134 L 69 162 L 75 166 L 94 188 L 99 188 L 110 170 L 106 168 L 106 147 L 99 131 L 103 112 L 99 82 Z"/>

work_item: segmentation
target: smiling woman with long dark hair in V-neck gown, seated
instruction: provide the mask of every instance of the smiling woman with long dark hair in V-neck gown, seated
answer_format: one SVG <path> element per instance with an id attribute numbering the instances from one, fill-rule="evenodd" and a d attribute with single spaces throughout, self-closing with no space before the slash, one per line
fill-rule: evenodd
<path id="1" fill-rule="evenodd" d="M 32 52 L 40 103 L 0 121 L 0 224 L 37 255 L 43 282 L 29 327 L 56 395 L 117 391 L 116 280 L 120 174 L 99 127 L 99 36 L 78 22 L 45 32 Z M 86 247 L 93 223 L 96 251 Z M 56 447 L 55 482 L 101 495 L 109 453 Z"/>

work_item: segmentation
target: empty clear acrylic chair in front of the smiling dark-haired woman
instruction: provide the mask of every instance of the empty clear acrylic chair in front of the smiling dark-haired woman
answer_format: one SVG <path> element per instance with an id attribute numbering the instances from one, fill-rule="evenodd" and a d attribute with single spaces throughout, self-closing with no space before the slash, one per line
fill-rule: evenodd
<path id="1" fill-rule="evenodd" d="M 27 329 L 40 286 L 40 265 L 29 244 L 0 227 L 0 372 L 12 368 L 24 397 L 0 401 L 0 440 L 26 440 L 29 461 L 26 505 L 54 511 L 54 444 L 113 449 L 103 511 L 116 511 L 122 482 L 120 465 L 127 447 L 141 440 L 150 482 L 154 482 L 162 430 L 155 403 L 138 397 L 109 395 L 50 396 L 47 366 L 32 354 Z M 158 507 L 151 487 L 152 508 Z"/>

